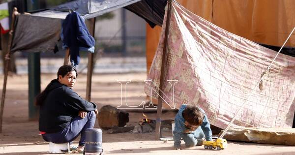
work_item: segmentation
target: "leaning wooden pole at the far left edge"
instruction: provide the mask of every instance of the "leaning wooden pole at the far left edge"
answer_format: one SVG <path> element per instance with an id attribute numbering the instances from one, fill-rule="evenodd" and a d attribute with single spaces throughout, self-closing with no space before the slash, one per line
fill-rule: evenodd
<path id="1" fill-rule="evenodd" d="M 12 11 L 12 22 L 11 22 L 11 30 L 9 32 L 9 39 L 8 39 L 8 53 L 5 56 L 6 62 L 4 62 L 4 82 L 3 82 L 3 88 L 2 88 L 2 96 L 1 96 L 1 105 L 0 105 L 0 133 L 2 133 L 2 120 L 3 120 L 3 109 L 4 109 L 4 102 L 5 102 L 5 94 L 6 94 L 6 84 L 7 84 L 7 76 L 8 76 L 8 66 L 9 66 L 9 60 L 10 60 L 10 50 L 11 50 L 11 44 L 13 39 L 13 30 L 14 30 L 14 22 L 16 15 L 19 13 L 17 12 L 17 8 L 14 7 Z"/>

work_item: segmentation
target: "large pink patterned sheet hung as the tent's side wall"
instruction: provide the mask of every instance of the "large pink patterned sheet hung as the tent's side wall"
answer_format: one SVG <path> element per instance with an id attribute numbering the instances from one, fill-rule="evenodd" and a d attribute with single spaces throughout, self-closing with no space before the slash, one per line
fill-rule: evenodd
<path id="1" fill-rule="evenodd" d="M 166 19 L 166 17 L 165 17 Z M 164 44 L 161 39 L 145 92 L 159 87 Z M 277 52 L 225 31 L 173 3 L 163 104 L 196 104 L 211 124 L 225 128 L 259 82 Z M 166 82 L 177 80 L 178 82 Z M 154 83 L 155 85 L 153 85 Z M 174 92 L 172 88 L 174 85 Z M 174 94 L 174 102 L 173 95 Z M 250 96 L 233 126 L 291 127 L 295 111 L 295 58 L 279 54 Z"/>

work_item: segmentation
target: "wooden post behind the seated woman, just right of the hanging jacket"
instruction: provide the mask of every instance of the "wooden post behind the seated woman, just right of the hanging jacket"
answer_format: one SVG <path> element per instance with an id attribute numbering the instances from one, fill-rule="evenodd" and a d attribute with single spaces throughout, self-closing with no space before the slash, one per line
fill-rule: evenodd
<path id="1" fill-rule="evenodd" d="M 95 35 L 95 18 L 91 19 L 90 34 L 94 37 Z M 91 78 L 93 72 L 93 57 L 94 53 L 88 54 L 88 67 L 87 67 L 87 86 L 86 86 L 86 100 L 91 100 Z"/>

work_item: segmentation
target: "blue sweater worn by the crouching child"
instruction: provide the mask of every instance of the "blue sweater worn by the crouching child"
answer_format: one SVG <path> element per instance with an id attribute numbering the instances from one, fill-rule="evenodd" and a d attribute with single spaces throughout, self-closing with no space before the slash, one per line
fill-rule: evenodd
<path id="1" fill-rule="evenodd" d="M 183 104 L 181 105 L 176 117 L 175 117 L 175 128 L 174 128 L 174 132 L 178 132 L 178 133 L 184 133 L 185 134 L 185 125 L 184 125 L 184 118 L 182 117 L 182 112 L 183 110 L 186 108 L 186 104 Z M 203 123 L 201 124 L 201 128 L 205 134 L 205 137 L 206 137 L 206 140 L 207 141 L 212 141 L 212 131 L 211 131 L 211 128 L 210 128 L 210 123 L 207 119 L 207 116 L 205 114 L 205 111 L 201 108 L 199 108 L 201 110 L 201 112 L 204 113 L 204 120 L 203 120 Z M 177 138 L 178 139 L 178 138 Z M 180 138 L 179 138 L 180 139 Z"/>

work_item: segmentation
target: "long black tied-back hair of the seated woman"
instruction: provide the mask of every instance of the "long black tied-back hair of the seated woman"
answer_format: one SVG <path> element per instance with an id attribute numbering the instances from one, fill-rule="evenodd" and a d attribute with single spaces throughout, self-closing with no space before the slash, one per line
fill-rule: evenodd
<path id="1" fill-rule="evenodd" d="M 71 65 L 63 65 L 61 67 L 59 67 L 59 71 L 58 71 L 58 78 L 55 80 L 52 80 L 45 88 L 45 90 L 41 93 L 39 93 L 36 98 L 35 98 L 35 105 L 42 105 L 45 98 L 47 97 L 48 93 L 50 92 L 49 88 L 52 85 L 52 83 L 57 82 L 57 80 L 59 80 L 59 75 L 61 75 L 61 77 L 66 76 L 69 72 L 71 71 L 75 71 L 76 72 L 76 77 L 78 76 L 78 72 L 77 69 L 74 66 Z"/>

